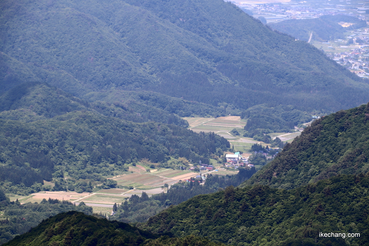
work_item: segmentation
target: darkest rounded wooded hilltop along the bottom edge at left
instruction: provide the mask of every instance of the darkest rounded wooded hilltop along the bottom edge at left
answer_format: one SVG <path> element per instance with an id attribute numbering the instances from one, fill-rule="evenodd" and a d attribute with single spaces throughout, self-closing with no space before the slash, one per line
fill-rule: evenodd
<path id="1" fill-rule="evenodd" d="M 17 236 L 7 246 L 222 246 L 198 236 L 170 238 L 142 231 L 134 226 L 98 219 L 76 211 L 58 214 L 30 232 Z"/>

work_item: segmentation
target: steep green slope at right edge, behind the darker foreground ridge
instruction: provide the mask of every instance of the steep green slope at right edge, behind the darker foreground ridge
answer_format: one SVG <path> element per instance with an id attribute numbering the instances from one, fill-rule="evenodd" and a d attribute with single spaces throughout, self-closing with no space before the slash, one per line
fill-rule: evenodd
<path id="1" fill-rule="evenodd" d="M 295 188 L 337 174 L 369 172 L 369 103 L 325 116 L 241 186 Z"/>

